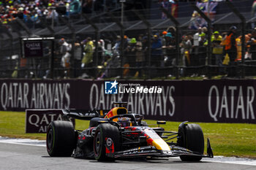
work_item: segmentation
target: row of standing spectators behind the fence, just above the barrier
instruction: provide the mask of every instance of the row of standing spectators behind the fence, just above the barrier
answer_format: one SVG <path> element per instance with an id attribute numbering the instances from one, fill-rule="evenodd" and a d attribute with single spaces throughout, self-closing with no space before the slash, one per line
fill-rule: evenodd
<path id="1" fill-rule="evenodd" d="M 95 40 L 87 39 L 75 43 L 74 60 L 76 67 L 80 69 L 90 68 L 91 66 L 101 66 L 105 72 L 101 72 L 98 77 L 113 77 L 120 75 L 120 71 L 110 68 L 123 67 L 124 77 L 143 77 L 146 66 L 151 66 L 151 74 L 154 76 L 167 75 L 173 76 L 173 70 L 160 71 L 157 68 L 170 68 L 174 66 L 217 66 L 217 74 L 227 74 L 228 77 L 236 77 L 235 69 L 226 69 L 225 66 L 236 66 L 241 62 L 241 35 L 238 28 L 231 26 L 227 32 L 212 31 L 211 35 L 211 61 L 207 58 L 208 47 L 208 28 L 198 28 L 196 33 L 184 35 L 176 34 L 176 28 L 170 26 L 165 31 L 156 32 L 150 35 L 140 34 L 138 36 L 124 36 L 124 57 L 121 59 L 121 36 L 110 39 L 100 39 L 98 50 L 95 49 Z M 176 58 L 176 35 L 181 36 L 178 42 L 180 48 L 180 58 Z M 256 60 L 256 28 L 245 35 L 246 54 L 245 60 Z M 59 58 L 61 66 L 68 69 L 72 64 L 72 57 L 69 49 L 70 44 L 65 39 L 59 40 Z M 149 49 L 149 48 L 150 49 Z M 97 52 L 97 55 L 96 55 Z M 118 56 L 118 57 L 117 57 Z M 96 58 L 97 57 L 97 58 Z M 117 57 L 117 58 L 116 58 Z M 178 59 L 178 63 L 176 60 Z M 210 63 L 208 63 L 210 62 Z M 155 69 L 154 69 L 155 68 Z M 227 67 L 228 68 L 228 67 Z M 186 72 L 181 69 L 181 76 Z M 203 73 L 201 74 L 203 75 Z M 79 77 L 80 74 L 75 75 Z M 189 76 L 200 76 L 199 73 Z"/>

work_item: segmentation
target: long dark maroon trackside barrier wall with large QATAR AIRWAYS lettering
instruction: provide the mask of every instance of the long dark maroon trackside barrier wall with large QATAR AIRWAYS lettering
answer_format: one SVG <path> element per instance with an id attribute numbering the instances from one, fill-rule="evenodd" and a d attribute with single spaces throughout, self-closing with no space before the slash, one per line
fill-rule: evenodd
<path id="1" fill-rule="evenodd" d="M 127 101 L 128 111 L 151 120 L 256 123 L 256 80 L 116 82 L 118 93 L 105 94 L 113 84 L 102 80 L 0 80 L 0 110 L 110 109 Z"/>

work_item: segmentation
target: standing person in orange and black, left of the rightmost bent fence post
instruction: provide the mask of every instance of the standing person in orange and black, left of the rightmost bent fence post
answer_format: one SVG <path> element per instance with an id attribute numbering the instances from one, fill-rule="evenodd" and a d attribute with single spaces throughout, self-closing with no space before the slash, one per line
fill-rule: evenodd
<path id="1" fill-rule="evenodd" d="M 235 60 L 237 56 L 237 49 L 236 49 L 236 26 L 231 26 L 230 31 L 227 34 L 225 39 L 225 51 L 230 57 L 229 68 L 227 77 L 236 77 L 236 70 L 233 68 L 235 66 Z"/>

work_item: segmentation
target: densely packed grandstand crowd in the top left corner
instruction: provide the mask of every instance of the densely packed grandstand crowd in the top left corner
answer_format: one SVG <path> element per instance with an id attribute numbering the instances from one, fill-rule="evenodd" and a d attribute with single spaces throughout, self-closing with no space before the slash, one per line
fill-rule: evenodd
<path id="1" fill-rule="evenodd" d="M 24 20 L 25 23 L 37 23 L 39 17 L 58 18 L 59 14 L 76 15 L 80 10 L 79 0 L 6 0 L 0 1 L 0 20 L 3 24 L 16 18 Z"/>

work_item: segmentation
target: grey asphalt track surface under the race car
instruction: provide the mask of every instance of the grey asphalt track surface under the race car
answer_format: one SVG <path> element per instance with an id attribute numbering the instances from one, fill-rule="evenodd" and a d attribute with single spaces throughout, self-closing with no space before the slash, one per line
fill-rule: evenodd
<path id="1" fill-rule="evenodd" d="M 72 170 L 72 169 L 116 169 L 116 170 L 132 170 L 132 169 L 195 169 L 195 170 L 256 170 L 256 166 L 241 165 L 236 163 L 217 163 L 209 161 L 200 161 L 197 163 L 182 162 L 177 158 L 156 158 L 156 159 L 134 159 L 129 161 L 115 162 L 98 162 L 95 160 L 78 159 L 78 158 L 51 158 L 45 147 L 0 143 L 0 169 L 54 169 L 54 170 Z"/>

